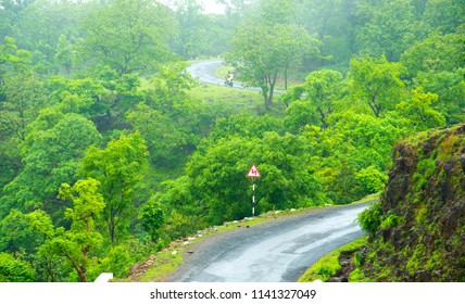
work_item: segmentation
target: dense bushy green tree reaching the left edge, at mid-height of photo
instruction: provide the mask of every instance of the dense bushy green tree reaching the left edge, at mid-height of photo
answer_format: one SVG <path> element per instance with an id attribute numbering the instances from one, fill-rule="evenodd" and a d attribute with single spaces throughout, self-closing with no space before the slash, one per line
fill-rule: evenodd
<path id="1" fill-rule="evenodd" d="M 25 147 L 23 170 L 4 187 L 1 202 L 22 212 L 37 207 L 61 218 L 60 185 L 76 180 L 80 159 L 101 136 L 95 125 L 78 114 L 66 114 L 51 128 L 37 130 Z"/>

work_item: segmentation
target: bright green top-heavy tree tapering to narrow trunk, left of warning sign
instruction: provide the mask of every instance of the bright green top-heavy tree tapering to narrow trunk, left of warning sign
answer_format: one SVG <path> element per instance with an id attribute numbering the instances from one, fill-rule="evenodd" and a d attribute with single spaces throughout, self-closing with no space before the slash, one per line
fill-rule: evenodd
<path id="1" fill-rule="evenodd" d="M 80 164 L 79 176 L 100 181 L 100 193 L 105 207 L 103 218 L 110 241 L 116 244 L 126 231 L 131 215 L 135 187 L 141 179 L 147 157 L 147 147 L 139 134 L 122 135 L 106 148 L 89 147 Z"/>

